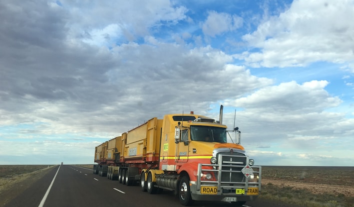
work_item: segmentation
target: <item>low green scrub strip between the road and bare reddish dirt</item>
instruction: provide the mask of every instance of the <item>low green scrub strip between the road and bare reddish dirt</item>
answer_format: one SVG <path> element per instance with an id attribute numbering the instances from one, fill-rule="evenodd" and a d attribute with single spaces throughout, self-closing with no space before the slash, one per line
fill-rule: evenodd
<path id="1" fill-rule="evenodd" d="M 354 197 L 346 197 L 343 194 L 313 194 L 305 189 L 276 186 L 271 183 L 262 186 L 260 198 L 301 207 L 354 207 Z"/>

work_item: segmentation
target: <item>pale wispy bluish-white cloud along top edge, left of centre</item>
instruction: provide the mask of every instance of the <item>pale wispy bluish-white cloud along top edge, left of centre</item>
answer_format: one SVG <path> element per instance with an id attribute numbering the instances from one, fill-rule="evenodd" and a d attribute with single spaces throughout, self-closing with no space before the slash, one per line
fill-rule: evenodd
<path id="1" fill-rule="evenodd" d="M 162 25 L 175 25 L 187 18 L 187 8 L 167 0 L 62 0 L 61 5 L 70 16 L 68 38 L 98 46 L 134 41 L 153 34 Z"/>

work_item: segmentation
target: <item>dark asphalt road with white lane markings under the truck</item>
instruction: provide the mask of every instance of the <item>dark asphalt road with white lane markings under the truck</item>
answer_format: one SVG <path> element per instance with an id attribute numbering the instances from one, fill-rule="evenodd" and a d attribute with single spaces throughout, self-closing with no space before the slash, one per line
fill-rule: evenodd
<path id="1" fill-rule="evenodd" d="M 54 182 L 53 178 L 55 177 Z M 50 185 L 52 183 L 52 185 Z M 49 186 L 51 188 L 48 190 Z M 47 195 L 46 195 L 46 192 Z M 46 195 L 46 196 L 45 196 Z M 139 186 L 126 186 L 92 174 L 92 170 L 62 165 L 50 170 L 6 207 L 181 207 L 172 192 L 150 195 Z M 195 202 L 195 207 L 231 207 L 228 203 Z M 256 200 L 244 207 L 294 207 Z"/>

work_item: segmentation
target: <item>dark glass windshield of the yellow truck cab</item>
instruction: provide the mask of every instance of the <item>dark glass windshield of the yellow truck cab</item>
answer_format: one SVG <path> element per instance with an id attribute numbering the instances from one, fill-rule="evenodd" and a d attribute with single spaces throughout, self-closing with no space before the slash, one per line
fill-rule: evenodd
<path id="1" fill-rule="evenodd" d="M 226 128 L 214 126 L 191 126 L 191 140 L 226 143 Z"/>

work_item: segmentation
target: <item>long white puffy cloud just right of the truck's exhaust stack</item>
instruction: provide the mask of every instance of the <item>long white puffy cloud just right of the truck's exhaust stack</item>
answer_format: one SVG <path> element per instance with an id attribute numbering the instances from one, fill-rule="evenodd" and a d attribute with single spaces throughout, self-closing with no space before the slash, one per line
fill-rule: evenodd
<path id="1" fill-rule="evenodd" d="M 252 95 L 231 103 L 239 107 L 256 109 L 258 112 L 307 113 L 321 112 L 327 107 L 338 106 L 342 101 L 331 97 L 324 88 L 327 81 L 311 81 L 302 85 L 295 81 L 260 89 Z"/>

